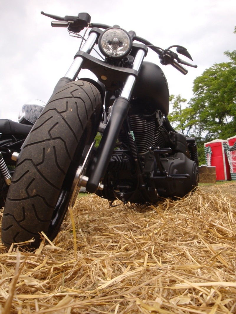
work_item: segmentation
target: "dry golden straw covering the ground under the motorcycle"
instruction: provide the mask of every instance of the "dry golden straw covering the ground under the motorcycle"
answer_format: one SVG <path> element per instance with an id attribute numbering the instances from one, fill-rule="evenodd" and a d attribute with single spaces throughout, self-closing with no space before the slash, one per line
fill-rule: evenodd
<path id="1" fill-rule="evenodd" d="M 80 198 L 34 253 L 0 246 L 2 313 L 236 313 L 236 182 L 178 201 Z M 76 251 L 74 250 L 76 246 Z"/>

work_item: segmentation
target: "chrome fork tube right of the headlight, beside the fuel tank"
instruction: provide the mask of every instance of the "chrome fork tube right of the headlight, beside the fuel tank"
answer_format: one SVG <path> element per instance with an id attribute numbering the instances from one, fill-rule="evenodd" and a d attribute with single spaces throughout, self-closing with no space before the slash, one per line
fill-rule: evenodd
<path id="1" fill-rule="evenodd" d="M 134 58 L 133 64 L 132 64 L 133 70 L 137 70 L 137 71 L 140 70 L 144 57 L 145 57 L 145 51 L 142 49 L 138 50 L 138 52 Z M 124 98 L 130 100 L 135 81 L 136 81 L 136 77 L 134 75 L 131 74 L 127 77 L 126 82 L 125 82 L 123 89 L 121 91 L 120 97 L 124 97 Z"/>

